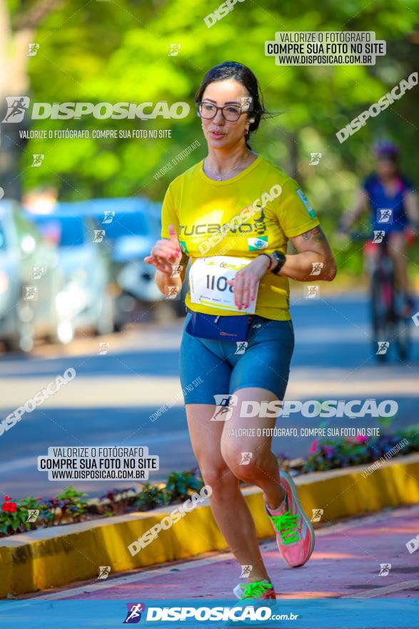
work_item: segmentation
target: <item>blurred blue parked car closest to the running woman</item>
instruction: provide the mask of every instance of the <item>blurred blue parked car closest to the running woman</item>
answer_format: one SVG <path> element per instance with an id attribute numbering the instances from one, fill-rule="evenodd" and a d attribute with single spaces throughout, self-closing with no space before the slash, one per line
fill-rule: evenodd
<path id="1" fill-rule="evenodd" d="M 116 327 L 140 306 L 155 312 L 164 295 L 154 282 L 155 269 L 143 258 L 160 237 L 159 204 L 142 197 L 92 199 L 77 204 L 81 215 L 96 220 L 111 257 L 111 278 L 116 295 Z"/>

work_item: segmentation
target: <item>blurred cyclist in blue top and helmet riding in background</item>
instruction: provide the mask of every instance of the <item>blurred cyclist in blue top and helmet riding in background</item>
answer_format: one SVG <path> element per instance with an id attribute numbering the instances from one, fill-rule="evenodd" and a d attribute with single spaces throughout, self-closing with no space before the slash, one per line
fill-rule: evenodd
<path id="1" fill-rule="evenodd" d="M 349 230 L 363 212 L 369 209 L 371 227 L 375 232 L 385 232 L 388 253 L 393 262 L 396 287 L 405 297 L 403 317 L 409 317 L 415 309 L 413 292 L 408 280 L 406 249 L 413 244 L 419 227 L 418 203 L 413 186 L 399 169 L 399 150 L 393 142 L 381 140 L 374 147 L 375 172 L 368 175 L 358 193 L 355 209 L 343 216 L 342 227 Z M 390 211 L 389 211 L 390 210 Z M 380 237 L 376 239 L 380 242 Z M 366 243 L 365 255 L 374 263 L 378 244 Z"/>

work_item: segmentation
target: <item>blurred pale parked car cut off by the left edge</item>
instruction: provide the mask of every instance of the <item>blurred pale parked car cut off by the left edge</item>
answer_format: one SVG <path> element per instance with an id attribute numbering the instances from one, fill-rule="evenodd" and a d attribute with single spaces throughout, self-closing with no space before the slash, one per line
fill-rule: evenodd
<path id="1" fill-rule="evenodd" d="M 32 349 L 57 279 L 55 247 L 42 242 L 19 203 L 0 201 L 0 340 L 7 350 Z"/>

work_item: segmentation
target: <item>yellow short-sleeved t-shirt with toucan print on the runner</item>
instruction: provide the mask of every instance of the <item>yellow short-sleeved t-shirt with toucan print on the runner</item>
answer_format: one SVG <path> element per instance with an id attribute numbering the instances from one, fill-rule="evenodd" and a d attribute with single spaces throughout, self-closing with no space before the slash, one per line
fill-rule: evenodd
<path id="1" fill-rule="evenodd" d="M 286 252 L 290 237 L 319 222 L 306 195 L 281 168 L 258 156 L 233 179 L 216 182 L 203 172 L 203 160 L 171 182 L 163 201 L 161 236 L 173 224 L 181 249 L 193 263 L 216 255 L 255 258 L 261 252 Z M 286 277 L 267 273 L 259 283 L 256 314 L 273 320 L 291 319 Z M 206 314 L 240 315 L 191 303 Z"/>

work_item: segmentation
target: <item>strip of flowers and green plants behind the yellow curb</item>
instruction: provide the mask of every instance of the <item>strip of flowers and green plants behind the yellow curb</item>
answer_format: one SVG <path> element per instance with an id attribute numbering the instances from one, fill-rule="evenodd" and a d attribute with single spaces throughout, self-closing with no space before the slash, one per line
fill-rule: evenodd
<path id="1" fill-rule="evenodd" d="M 395 452 L 398 450 L 399 452 Z M 395 449 L 395 450 L 392 450 Z M 281 468 L 293 475 L 333 470 L 350 465 L 372 463 L 385 457 L 408 455 L 419 451 L 419 426 L 400 430 L 394 435 L 381 435 L 367 440 L 366 437 L 314 440 L 306 459 L 291 460 L 287 455 L 278 456 Z M 134 511 L 148 511 L 176 502 L 183 502 L 193 492 L 201 490 L 203 480 L 197 470 L 173 472 L 166 482 L 144 483 L 136 487 L 114 489 L 100 498 L 88 498 L 88 494 L 74 487 L 48 498 L 29 496 L 18 502 L 6 495 L 0 508 L 0 537 L 25 531 L 83 522 L 98 517 L 121 515 Z M 36 510 L 36 520 L 28 521 L 29 511 Z"/>

